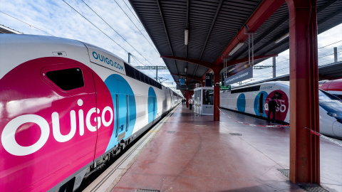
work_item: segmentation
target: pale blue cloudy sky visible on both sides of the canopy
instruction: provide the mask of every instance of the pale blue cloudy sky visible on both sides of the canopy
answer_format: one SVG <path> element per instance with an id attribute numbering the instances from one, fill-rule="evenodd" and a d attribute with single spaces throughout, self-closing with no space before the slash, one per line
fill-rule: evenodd
<path id="1" fill-rule="evenodd" d="M 91 23 L 90 23 L 91 22 Z M 128 0 L 0 0 L 0 24 L 25 34 L 71 38 L 109 50 L 132 65 L 165 65 Z M 183 35 L 183 34 L 182 34 Z M 284 41 L 289 41 L 287 38 Z M 342 24 L 318 35 L 318 65 L 333 63 L 333 47 L 342 60 Z M 272 65 L 271 58 L 258 65 Z M 154 70 L 143 73 L 155 78 Z M 289 74 L 289 50 L 276 58 L 276 76 Z M 176 84 L 168 70 L 158 70 L 163 85 Z M 272 77 L 272 68 L 254 70 L 242 83 Z M 238 84 L 233 84 L 233 86 Z"/>

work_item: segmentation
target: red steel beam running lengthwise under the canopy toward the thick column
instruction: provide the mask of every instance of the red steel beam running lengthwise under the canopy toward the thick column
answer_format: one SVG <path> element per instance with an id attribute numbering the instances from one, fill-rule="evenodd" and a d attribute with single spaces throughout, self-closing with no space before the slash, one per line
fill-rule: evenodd
<path id="1" fill-rule="evenodd" d="M 249 28 L 249 33 L 257 31 L 257 29 L 269 18 L 279 7 L 284 4 L 285 0 L 265 0 L 258 6 L 251 17 L 246 22 L 246 26 Z M 228 57 L 228 53 L 237 46 L 238 43 L 246 41 L 248 35 L 244 33 L 244 27 L 240 29 L 237 35 L 232 39 L 227 48 L 224 49 L 222 55 L 215 61 L 215 65 L 223 63 L 223 59 Z"/>

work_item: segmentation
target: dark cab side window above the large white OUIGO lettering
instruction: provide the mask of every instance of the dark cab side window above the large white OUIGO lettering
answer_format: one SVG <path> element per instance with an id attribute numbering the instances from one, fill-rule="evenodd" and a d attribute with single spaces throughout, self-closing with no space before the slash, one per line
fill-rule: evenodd
<path id="1" fill-rule="evenodd" d="M 53 70 L 46 77 L 62 90 L 73 90 L 84 86 L 83 74 L 80 68 Z"/>

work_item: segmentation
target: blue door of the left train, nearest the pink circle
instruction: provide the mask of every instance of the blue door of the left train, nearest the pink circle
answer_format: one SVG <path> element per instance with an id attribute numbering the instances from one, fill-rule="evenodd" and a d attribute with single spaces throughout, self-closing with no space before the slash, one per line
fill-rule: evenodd
<path id="1" fill-rule="evenodd" d="M 123 85 L 123 81 L 118 80 L 118 87 Z M 128 128 L 128 94 L 127 91 L 119 92 L 116 96 L 117 106 L 117 124 L 116 124 L 116 136 L 118 141 L 125 137 L 125 132 Z"/>

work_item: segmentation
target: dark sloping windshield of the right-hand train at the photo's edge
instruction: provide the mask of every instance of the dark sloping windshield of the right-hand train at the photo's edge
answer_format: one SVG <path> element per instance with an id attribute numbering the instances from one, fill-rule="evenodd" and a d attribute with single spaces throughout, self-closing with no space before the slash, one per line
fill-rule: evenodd
<path id="1" fill-rule="evenodd" d="M 342 119 L 342 100 L 322 90 L 318 90 L 318 97 L 319 105 L 326 110 L 328 115 Z"/>

